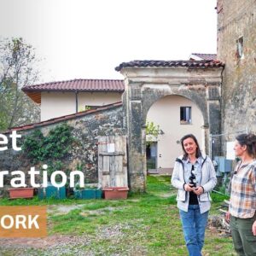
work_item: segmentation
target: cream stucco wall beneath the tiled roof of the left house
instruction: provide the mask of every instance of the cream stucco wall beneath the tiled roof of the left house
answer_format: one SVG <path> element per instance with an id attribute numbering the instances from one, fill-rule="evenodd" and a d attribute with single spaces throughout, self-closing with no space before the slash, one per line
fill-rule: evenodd
<path id="1" fill-rule="evenodd" d="M 118 92 L 79 92 L 78 106 L 83 110 L 85 105 L 103 106 L 121 101 Z M 76 97 L 74 92 L 42 92 L 41 121 L 63 115 L 76 113 Z"/>

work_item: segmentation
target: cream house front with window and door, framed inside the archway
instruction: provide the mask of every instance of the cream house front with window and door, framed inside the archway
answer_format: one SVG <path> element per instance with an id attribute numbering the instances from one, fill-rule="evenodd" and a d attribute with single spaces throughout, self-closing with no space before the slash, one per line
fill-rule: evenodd
<path id="1" fill-rule="evenodd" d="M 161 97 L 148 109 L 148 122 L 159 128 L 159 135 L 146 135 L 147 172 L 171 174 L 177 156 L 182 154 L 179 140 L 185 134 L 194 134 L 202 152 L 206 152 L 204 117 L 201 109 L 189 98 L 177 95 Z"/>

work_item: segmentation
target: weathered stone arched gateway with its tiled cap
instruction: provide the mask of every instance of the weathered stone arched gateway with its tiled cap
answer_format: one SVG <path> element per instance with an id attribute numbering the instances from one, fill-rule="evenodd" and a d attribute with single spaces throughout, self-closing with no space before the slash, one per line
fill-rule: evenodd
<path id="1" fill-rule="evenodd" d="M 146 184 L 146 132 L 148 109 L 164 96 L 183 96 L 201 109 L 205 151 L 209 134 L 220 133 L 221 73 L 219 61 L 131 61 L 116 70 L 125 77 L 124 124 L 128 132 L 129 182 L 132 191 Z M 212 148 L 218 155 L 220 145 Z"/>

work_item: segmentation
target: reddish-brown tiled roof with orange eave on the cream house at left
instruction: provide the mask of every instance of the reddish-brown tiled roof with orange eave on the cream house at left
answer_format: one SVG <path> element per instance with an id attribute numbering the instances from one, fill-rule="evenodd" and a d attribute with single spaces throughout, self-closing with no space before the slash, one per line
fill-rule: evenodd
<path id="1" fill-rule="evenodd" d="M 104 91 L 123 92 L 125 84 L 123 80 L 117 79 L 74 79 L 44 84 L 25 86 L 22 90 L 34 102 L 41 103 L 42 91 Z"/>

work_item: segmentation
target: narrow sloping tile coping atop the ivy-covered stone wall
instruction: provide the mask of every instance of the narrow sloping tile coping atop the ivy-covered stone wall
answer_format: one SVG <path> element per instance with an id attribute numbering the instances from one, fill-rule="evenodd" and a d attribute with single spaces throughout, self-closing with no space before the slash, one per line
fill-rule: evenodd
<path id="1" fill-rule="evenodd" d="M 102 110 L 106 110 L 106 109 L 110 109 L 110 108 L 117 108 L 123 105 L 123 102 L 116 102 L 116 103 L 112 103 L 112 104 L 108 104 L 108 105 L 104 105 L 102 107 L 96 108 L 96 109 L 90 109 L 90 110 L 85 110 L 79 113 L 72 113 L 72 114 L 68 114 L 68 115 L 63 115 L 61 117 L 57 117 L 55 119 L 48 119 L 39 123 L 34 123 L 34 124 L 30 124 L 30 125 L 23 125 L 23 126 L 18 126 L 18 127 L 12 127 L 10 128 L 8 131 L 5 132 L 5 134 L 10 133 L 11 131 L 25 131 L 25 130 L 30 130 L 33 128 L 38 128 L 44 125 L 52 125 L 58 122 L 61 122 L 63 120 L 67 120 L 67 119 L 75 119 L 77 117 L 80 116 L 84 116 L 86 114 L 89 113 L 96 113 L 96 112 L 100 112 Z"/>

